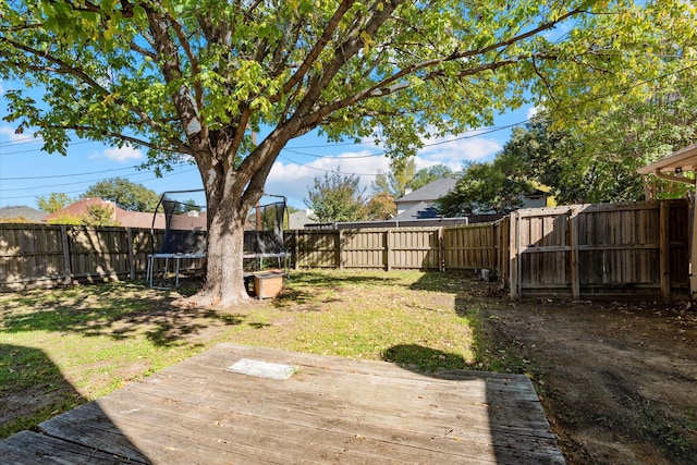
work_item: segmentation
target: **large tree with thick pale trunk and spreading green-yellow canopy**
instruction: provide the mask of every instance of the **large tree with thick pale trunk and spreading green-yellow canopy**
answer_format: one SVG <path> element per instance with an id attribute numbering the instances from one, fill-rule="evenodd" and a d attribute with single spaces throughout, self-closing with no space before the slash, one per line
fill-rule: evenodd
<path id="1" fill-rule="evenodd" d="M 163 169 L 194 160 L 209 223 L 198 302 L 229 304 L 247 298 L 244 222 L 290 139 L 320 129 L 409 155 L 528 96 L 592 98 L 658 75 L 671 63 L 655 46 L 694 34 L 690 7 L 641 3 L 9 0 L 0 75 L 44 98 L 8 89 L 5 118 L 48 151 L 74 134 L 147 147 Z"/>

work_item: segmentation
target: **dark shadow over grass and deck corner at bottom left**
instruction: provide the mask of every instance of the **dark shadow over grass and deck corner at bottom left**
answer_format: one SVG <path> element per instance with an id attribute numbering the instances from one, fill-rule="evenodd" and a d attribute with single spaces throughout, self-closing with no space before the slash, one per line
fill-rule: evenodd
<path id="1" fill-rule="evenodd" d="M 0 344 L 0 380 L 10 376 L 15 382 L 0 383 L 3 463 L 151 463 L 95 402 L 51 418 L 56 411 L 77 405 L 80 394 L 42 351 Z M 26 390 L 33 392 L 30 404 L 26 403 Z M 16 395 L 19 392 L 22 395 Z M 38 427 L 22 430 L 37 421 L 41 421 Z M 89 430 L 101 439 L 98 449 L 95 441 L 85 441 Z M 9 436 L 15 431 L 20 432 Z"/>

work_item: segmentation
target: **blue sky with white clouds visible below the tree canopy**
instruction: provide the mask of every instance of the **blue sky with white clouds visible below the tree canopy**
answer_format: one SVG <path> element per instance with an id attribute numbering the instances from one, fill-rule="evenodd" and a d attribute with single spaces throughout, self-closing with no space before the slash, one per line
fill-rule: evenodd
<path id="1" fill-rule="evenodd" d="M 16 85 L 0 82 L 0 118 L 7 114 L 7 102 L 1 95 Z M 416 157 L 416 168 L 443 163 L 456 171 L 469 160 L 491 160 L 511 134 L 510 127 L 497 129 L 524 122 L 529 115 L 530 109 L 523 108 L 498 118 L 493 129 L 425 140 L 426 147 Z M 8 122 L 0 121 L 0 207 L 36 208 L 37 198 L 53 192 L 78 197 L 96 182 L 117 176 L 158 194 L 203 186 L 194 166 L 181 167 L 160 179 L 151 171 L 137 170 L 135 167 L 146 158 L 145 150 L 138 148 L 120 149 L 76 139 L 63 157 L 41 151 L 41 140 L 35 139 L 30 132 L 17 135 L 14 130 Z M 284 195 L 290 205 L 305 209 L 303 199 L 307 198 L 314 179 L 338 169 L 343 174 L 360 176 L 366 194 L 371 194 L 370 183 L 378 171 L 387 171 L 389 164 L 382 150 L 372 143 L 329 144 L 310 133 L 288 144 L 271 170 L 266 192 Z"/>

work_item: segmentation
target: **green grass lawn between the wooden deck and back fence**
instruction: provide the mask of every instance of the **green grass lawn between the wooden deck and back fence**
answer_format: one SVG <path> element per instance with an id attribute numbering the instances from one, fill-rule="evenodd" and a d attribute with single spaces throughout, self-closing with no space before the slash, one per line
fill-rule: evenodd
<path id="1" fill-rule="evenodd" d="M 180 293 L 127 282 L 0 294 L 0 438 L 222 341 L 424 370 L 516 365 L 484 329 L 486 306 L 501 305 L 496 285 L 473 284 L 444 273 L 293 272 L 279 298 L 224 309 L 180 307 Z"/>

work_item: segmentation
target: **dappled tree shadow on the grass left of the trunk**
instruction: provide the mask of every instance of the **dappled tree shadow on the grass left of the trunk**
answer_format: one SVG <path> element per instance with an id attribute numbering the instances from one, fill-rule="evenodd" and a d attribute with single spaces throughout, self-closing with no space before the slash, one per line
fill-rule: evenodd
<path id="1" fill-rule="evenodd" d="M 236 326 L 245 320 L 241 314 L 173 305 L 180 295 L 124 283 L 30 291 L 0 310 L 0 330 L 107 335 L 114 340 L 144 334 L 158 346 L 169 346 L 211 326 Z"/>

